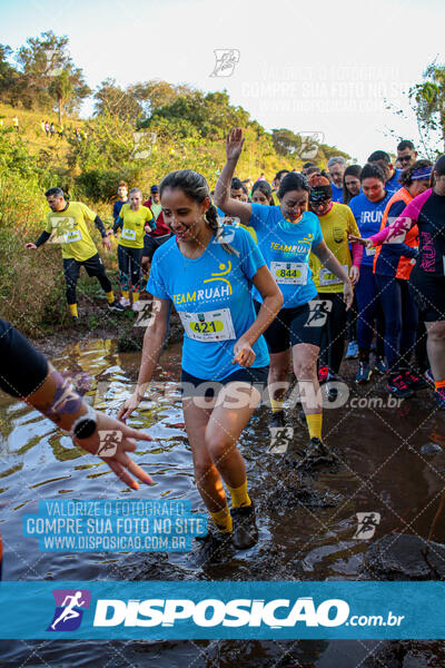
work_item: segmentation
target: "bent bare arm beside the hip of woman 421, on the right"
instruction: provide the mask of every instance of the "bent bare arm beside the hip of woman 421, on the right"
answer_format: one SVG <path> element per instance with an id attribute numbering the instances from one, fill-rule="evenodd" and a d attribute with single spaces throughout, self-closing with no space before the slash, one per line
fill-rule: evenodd
<path id="1" fill-rule="evenodd" d="M 255 274 L 254 285 L 263 297 L 263 304 L 255 322 L 235 344 L 235 357 L 233 363 L 240 364 L 241 366 L 250 366 L 253 364 L 255 353 L 251 346 L 276 318 L 283 306 L 281 291 L 275 283 L 274 277 L 266 265 L 260 267 Z"/>

